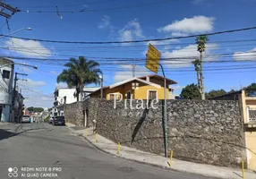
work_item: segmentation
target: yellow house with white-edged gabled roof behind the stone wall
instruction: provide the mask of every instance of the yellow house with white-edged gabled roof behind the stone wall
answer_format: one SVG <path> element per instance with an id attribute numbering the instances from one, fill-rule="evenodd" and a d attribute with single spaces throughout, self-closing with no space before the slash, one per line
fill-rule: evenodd
<path id="1" fill-rule="evenodd" d="M 168 88 L 171 84 L 176 84 L 176 82 L 166 79 L 166 87 Z M 169 98 L 170 91 L 173 90 L 166 90 L 166 98 Z M 164 94 L 164 78 L 158 75 L 134 77 L 103 88 L 103 98 L 108 100 L 121 98 L 121 96 L 127 99 L 164 99 Z M 90 97 L 99 98 L 100 90 L 91 93 Z"/>

